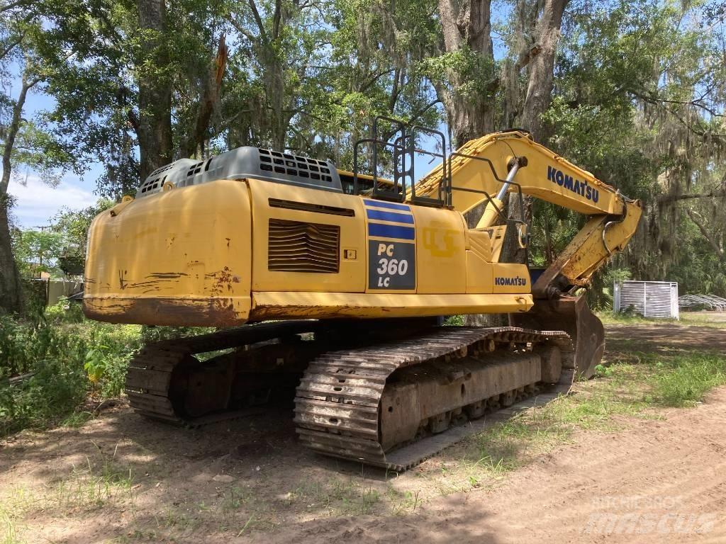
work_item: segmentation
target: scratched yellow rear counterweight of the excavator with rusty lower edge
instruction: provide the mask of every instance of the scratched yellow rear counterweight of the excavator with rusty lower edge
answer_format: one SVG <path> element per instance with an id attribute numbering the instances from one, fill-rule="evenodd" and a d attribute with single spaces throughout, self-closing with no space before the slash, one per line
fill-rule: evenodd
<path id="1" fill-rule="evenodd" d="M 189 302 L 200 316 L 185 324 L 203 325 L 205 310 L 196 301 L 208 301 L 210 308 L 224 308 L 227 321 L 244 322 L 250 308 L 250 242 L 249 192 L 240 181 L 122 202 L 98 215 L 89 229 L 86 311 L 124 322 L 120 309 L 134 309 L 139 315 L 132 322 L 181 324 L 160 314 Z"/>

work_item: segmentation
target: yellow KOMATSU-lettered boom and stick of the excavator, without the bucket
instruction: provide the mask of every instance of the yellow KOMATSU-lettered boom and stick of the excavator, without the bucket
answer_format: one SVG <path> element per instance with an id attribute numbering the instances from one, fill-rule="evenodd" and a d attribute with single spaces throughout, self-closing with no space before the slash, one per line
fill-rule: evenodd
<path id="1" fill-rule="evenodd" d="M 417 196 L 436 194 L 449 184 L 449 204 L 461 213 L 486 205 L 478 228 L 491 228 L 502 217 L 502 199 L 511 191 L 531 195 L 588 216 L 588 221 L 533 286 L 547 296 L 556 284 L 587 287 L 590 276 L 635 234 L 640 201 L 595 178 L 592 173 L 537 144 L 522 131 L 493 133 L 471 140 L 449 159 L 448 180 L 442 166 L 415 187 Z"/>

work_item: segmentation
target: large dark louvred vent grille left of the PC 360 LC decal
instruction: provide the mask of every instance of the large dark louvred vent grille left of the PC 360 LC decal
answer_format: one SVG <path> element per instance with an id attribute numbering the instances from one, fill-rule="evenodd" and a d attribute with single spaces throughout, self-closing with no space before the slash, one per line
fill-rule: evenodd
<path id="1" fill-rule="evenodd" d="M 338 225 L 270 219 L 269 271 L 337 273 L 339 263 Z"/>

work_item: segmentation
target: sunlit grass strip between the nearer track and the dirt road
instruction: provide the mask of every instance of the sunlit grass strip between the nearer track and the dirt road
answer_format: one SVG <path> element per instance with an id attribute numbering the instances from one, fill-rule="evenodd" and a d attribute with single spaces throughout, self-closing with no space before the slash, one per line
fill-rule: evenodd
<path id="1" fill-rule="evenodd" d="M 713 353 L 631 352 L 597 370 L 596 379 L 576 384 L 576 394 L 470 437 L 462 445 L 462 458 L 441 469 L 441 493 L 491 485 L 567 442 L 576 430 L 616 431 L 623 426 L 619 416 L 658 419 L 659 408 L 696 405 L 714 387 L 726 384 L 726 357 Z"/>

